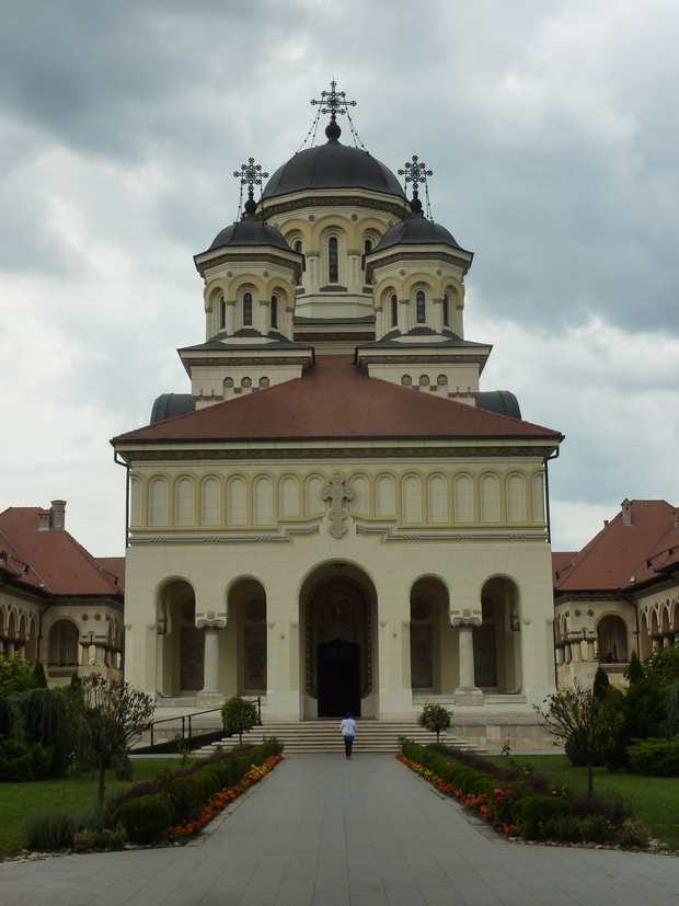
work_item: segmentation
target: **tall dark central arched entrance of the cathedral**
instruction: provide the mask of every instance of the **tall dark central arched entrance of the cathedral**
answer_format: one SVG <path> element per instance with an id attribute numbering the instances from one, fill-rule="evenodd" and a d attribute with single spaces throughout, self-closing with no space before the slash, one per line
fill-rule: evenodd
<path id="1" fill-rule="evenodd" d="M 311 587 L 304 606 L 308 716 L 366 715 L 372 691 L 371 612 L 366 587 L 349 575 L 329 575 Z"/>

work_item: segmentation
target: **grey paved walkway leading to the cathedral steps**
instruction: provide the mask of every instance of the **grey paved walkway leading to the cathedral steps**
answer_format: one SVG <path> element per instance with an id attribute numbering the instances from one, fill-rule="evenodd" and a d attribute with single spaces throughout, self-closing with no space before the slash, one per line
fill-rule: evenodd
<path id="1" fill-rule="evenodd" d="M 295 755 L 189 846 L 0 864 L 0 904 L 679 906 L 679 858 L 507 844 L 393 757 Z"/>

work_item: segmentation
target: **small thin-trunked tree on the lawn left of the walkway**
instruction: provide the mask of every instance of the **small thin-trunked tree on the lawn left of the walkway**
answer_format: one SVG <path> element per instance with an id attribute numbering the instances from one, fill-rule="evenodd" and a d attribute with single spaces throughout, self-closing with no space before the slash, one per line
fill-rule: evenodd
<path id="1" fill-rule="evenodd" d="M 126 752 L 153 715 L 153 699 L 122 679 L 90 674 L 69 688 L 69 716 L 81 748 L 99 769 L 96 804 L 104 806 L 106 768 Z"/>

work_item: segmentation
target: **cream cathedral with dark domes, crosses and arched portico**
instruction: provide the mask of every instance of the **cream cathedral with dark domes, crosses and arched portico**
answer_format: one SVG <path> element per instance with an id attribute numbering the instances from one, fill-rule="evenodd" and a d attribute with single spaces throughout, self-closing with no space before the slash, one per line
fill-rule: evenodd
<path id="1" fill-rule="evenodd" d="M 242 216 L 195 255 L 189 392 L 112 441 L 125 677 L 187 710 L 258 697 L 265 725 L 438 701 L 498 738 L 554 689 L 563 437 L 480 389 L 473 254 L 428 216 L 431 172 L 413 157 L 402 185 L 343 142 L 354 102 L 334 82 L 312 103 L 325 140 L 271 179 L 243 164 Z"/>

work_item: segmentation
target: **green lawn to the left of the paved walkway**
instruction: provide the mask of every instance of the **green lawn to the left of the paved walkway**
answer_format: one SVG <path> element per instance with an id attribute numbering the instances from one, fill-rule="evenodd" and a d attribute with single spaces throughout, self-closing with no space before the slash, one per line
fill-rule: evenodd
<path id="1" fill-rule="evenodd" d="M 169 768 L 176 770 L 181 758 L 133 758 L 134 780 L 152 780 Z M 59 780 L 36 780 L 33 783 L 1 783 L 2 821 L 0 822 L 0 859 L 16 856 L 24 848 L 24 818 L 48 803 L 54 810 L 82 812 L 96 803 L 96 773 Z M 106 796 L 130 785 L 128 780 L 106 778 Z"/>

